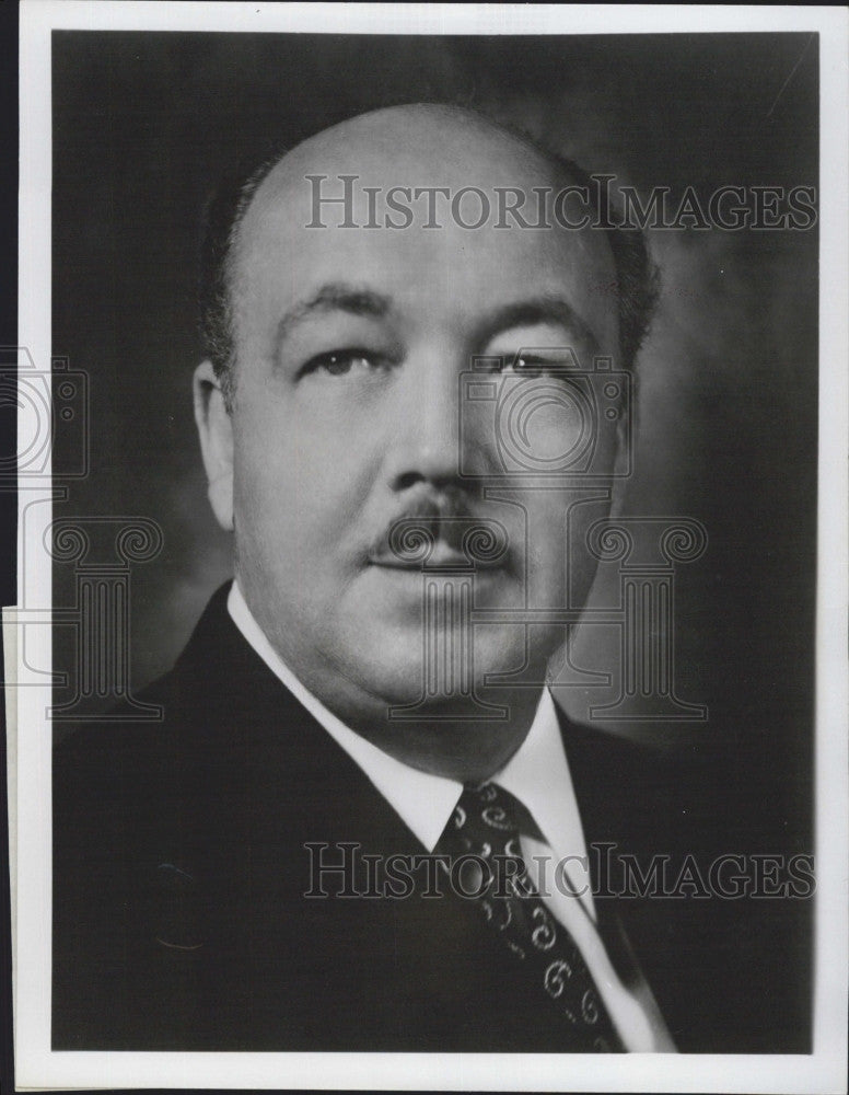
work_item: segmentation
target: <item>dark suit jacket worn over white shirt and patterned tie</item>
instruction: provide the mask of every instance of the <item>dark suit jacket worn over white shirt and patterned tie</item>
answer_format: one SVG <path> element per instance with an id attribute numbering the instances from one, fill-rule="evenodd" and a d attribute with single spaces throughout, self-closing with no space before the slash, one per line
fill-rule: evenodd
<path id="1" fill-rule="evenodd" d="M 57 749 L 54 1048 L 570 1049 L 472 902 L 303 896 L 307 842 L 334 862 L 341 841 L 423 849 L 245 642 L 226 592 L 144 695 L 163 722 L 83 728 Z M 701 830 L 709 850 L 698 775 L 562 730 L 588 843 L 698 852 Z M 780 960 L 757 944 L 766 917 L 746 926 L 740 902 L 718 900 L 615 907 L 679 1049 L 804 1051 L 798 991 L 765 976 Z"/>

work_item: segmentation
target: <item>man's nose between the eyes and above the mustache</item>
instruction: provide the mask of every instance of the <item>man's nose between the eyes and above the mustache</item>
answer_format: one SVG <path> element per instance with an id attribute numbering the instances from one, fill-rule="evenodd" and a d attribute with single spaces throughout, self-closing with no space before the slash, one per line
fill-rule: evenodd
<path id="1" fill-rule="evenodd" d="M 431 343 L 405 362 L 396 389 L 394 429 L 386 452 L 391 487 L 425 483 L 439 489 L 463 480 L 460 382 L 463 356 Z"/>

